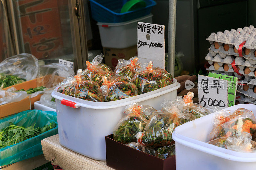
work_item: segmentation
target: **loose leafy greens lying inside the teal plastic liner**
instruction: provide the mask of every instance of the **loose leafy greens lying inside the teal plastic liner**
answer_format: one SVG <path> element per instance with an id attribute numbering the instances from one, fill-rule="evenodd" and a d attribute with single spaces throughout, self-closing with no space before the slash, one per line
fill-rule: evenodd
<path id="1" fill-rule="evenodd" d="M 35 125 L 25 128 L 22 126 L 16 126 L 12 122 L 9 123 L 10 126 L 7 126 L 0 131 L 0 149 L 12 144 L 17 144 L 31 137 L 35 137 L 56 127 L 56 123 L 54 122 L 50 125 L 45 125 L 42 128 L 34 128 Z"/>

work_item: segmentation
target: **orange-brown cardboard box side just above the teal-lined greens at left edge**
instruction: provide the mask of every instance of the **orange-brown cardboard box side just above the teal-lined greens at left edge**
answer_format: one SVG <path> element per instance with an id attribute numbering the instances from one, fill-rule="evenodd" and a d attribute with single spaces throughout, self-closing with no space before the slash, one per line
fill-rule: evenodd
<path id="1" fill-rule="evenodd" d="M 18 102 L 7 103 L 0 106 L 0 118 L 31 109 L 30 98 L 26 97 Z"/>

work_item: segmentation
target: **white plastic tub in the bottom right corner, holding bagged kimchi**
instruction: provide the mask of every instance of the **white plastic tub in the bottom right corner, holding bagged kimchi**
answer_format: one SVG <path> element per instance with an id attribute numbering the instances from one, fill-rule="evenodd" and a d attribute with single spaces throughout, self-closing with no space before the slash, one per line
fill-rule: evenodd
<path id="1" fill-rule="evenodd" d="M 240 104 L 224 110 L 232 112 L 238 108 L 256 114 L 256 105 Z M 245 170 L 256 169 L 256 153 L 235 152 L 207 144 L 212 131 L 213 114 L 175 128 L 172 138 L 176 145 L 176 170 Z"/>

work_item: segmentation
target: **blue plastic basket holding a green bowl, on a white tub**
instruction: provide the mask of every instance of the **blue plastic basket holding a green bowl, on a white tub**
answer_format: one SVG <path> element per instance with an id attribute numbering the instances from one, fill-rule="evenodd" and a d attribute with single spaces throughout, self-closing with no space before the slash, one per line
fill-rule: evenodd
<path id="1" fill-rule="evenodd" d="M 135 11 L 120 13 L 127 0 L 89 0 L 91 1 L 92 18 L 98 22 L 118 23 L 149 15 L 152 6 L 156 5 L 153 0 L 144 0 L 145 8 Z"/>

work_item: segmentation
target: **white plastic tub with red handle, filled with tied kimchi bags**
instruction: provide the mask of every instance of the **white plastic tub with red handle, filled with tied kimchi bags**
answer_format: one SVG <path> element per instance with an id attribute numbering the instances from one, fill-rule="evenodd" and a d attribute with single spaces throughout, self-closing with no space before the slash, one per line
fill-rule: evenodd
<path id="1" fill-rule="evenodd" d="M 56 100 L 57 120 L 60 144 L 72 151 L 97 160 L 106 160 L 105 136 L 113 129 L 124 107 L 137 102 L 160 109 L 165 100 L 175 100 L 180 84 L 173 78 L 173 84 L 133 96 L 110 102 L 92 102 L 67 96 L 55 90 L 52 97 Z"/>

